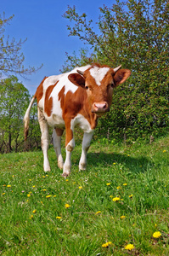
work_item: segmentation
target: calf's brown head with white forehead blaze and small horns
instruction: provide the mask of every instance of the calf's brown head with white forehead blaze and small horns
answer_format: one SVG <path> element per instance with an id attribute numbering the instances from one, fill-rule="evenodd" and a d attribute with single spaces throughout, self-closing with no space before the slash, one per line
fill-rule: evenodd
<path id="1" fill-rule="evenodd" d="M 91 111 L 101 116 L 110 110 L 113 89 L 124 83 L 130 74 L 129 69 L 121 69 L 121 66 L 111 68 L 93 64 L 84 72 L 71 73 L 68 78 L 87 91 Z"/>

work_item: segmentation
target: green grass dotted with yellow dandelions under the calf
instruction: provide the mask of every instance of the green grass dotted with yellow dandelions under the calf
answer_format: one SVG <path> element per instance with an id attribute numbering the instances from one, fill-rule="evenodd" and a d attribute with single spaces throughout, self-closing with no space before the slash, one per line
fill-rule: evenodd
<path id="1" fill-rule="evenodd" d="M 67 179 L 54 148 L 48 173 L 41 151 L 0 155 L 0 254 L 169 255 L 169 137 L 93 143 L 86 172 L 80 154 L 76 146 Z"/>

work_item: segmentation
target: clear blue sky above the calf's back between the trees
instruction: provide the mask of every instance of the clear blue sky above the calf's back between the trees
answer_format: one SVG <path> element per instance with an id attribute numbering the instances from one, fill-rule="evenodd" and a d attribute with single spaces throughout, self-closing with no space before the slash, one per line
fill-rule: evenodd
<path id="1" fill-rule="evenodd" d="M 77 12 L 87 14 L 93 20 L 93 26 L 99 18 L 99 7 L 111 6 L 115 0 L 5 0 L 1 1 L 1 15 L 14 19 L 6 26 L 5 34 L 16 40 L 27 41 L 22 46 L 25 55 L 25 67 L 43 67 L 37 73 L 28 76 L 29 80 L 20 79 L 31 95 L 44 76 L 59 74 L 66 60 L 65 52 L 72 54 L 84 47 L 76 37 L 68 37 L 66 25 L 70 21 L 62 17 L 68 5 L 76 6 Z"/>

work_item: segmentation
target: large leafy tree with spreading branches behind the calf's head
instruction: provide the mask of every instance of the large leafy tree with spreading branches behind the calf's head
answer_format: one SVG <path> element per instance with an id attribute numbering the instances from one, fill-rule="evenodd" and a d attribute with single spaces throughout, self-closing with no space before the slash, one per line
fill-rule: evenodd
<path id="1" fill-rule="evenodd" d="M 169 125 L 169 3 L 166 0 L 116 1 L 100 8 L 99 33 L 93 20 L 68 7 L 70 36 L 92 48 L 88 56 L 68 55 L 66 67 L 98 61 L 122 65 L 132 76 L 115 90 L 111 112 L 99 121 L 99 134 L 129 139 L 157 136 Z M 91 52 L 91 50 L 90 50 Z M 65 67 L 64 67 L 65 68 Z"/>

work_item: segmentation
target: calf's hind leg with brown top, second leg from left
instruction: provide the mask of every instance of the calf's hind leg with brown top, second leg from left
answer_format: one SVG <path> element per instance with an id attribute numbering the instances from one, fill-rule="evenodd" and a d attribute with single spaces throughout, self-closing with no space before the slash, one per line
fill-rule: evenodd
<path id="1" fill-rule="evenodd" d="M 61 136 L 63 134 L 63 130 L 61 129 L 54 129 L 53 131 L 53 144 L 54 144 L 54 150 L 56 152 L 57 158 L 58 158 L 58 167 L 59 169 L 63 169 L 64 166 L 64 160 L 61 154 Z"/>

